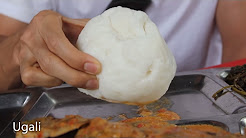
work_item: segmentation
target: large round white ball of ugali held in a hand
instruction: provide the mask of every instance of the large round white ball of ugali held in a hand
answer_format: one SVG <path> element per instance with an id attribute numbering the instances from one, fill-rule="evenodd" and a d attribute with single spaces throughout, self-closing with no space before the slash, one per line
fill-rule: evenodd
<path id="1" fill-rule="evenodd" d="M 77 46 L 102 64 L 99 89 L 79 88 L 95 98 L 153 102 L 166 93 L 176 72 L 174 56 L 142 11 L 122 7 L 105 11 L 86 24 Z"/>

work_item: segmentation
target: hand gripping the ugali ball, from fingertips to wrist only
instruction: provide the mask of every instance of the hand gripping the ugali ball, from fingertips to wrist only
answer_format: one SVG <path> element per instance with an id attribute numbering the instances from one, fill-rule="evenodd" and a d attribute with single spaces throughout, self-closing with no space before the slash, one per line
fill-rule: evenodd
<path id="1" fill-rule="evenodd" d="M 97 89 L 101 64 L 73 45 L 88 19 L 74 20 L 41 11 L 20 37 L 21 79 L 25 85 L 53 87 L 66 82 Z"/>

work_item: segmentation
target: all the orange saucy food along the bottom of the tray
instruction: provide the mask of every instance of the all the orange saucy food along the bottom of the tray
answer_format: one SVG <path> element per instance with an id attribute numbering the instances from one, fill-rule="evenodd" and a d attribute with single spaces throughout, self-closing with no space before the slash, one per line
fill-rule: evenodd
<path id="1" fill-rule="evenodd" d="M 81 137 L 242 137 L 208 124 L 174 125 L 167 121 L 180 117 L 166 109 L 153 113 L 146 109 L 140 112 L 142 117 L 110 122 L 102 118 L 84 119 L 76 115 L 65 119 L 41 118 L 41 132 L 17 133 L 18 137 L 57 137 L 71 130 L 78 129 L 73 136 Z M 74 119 L 75 118 L 75 119 Z M 31 122 L 34 122 L 33 120 Z M 57 123 L 58 122 L 58 123 Z M 74 125 L 76 124 L 76 125 Z M 52 134 L 52 135 L 51 135 Z M 66 137 L 66 134 L 63 135 Z"/>

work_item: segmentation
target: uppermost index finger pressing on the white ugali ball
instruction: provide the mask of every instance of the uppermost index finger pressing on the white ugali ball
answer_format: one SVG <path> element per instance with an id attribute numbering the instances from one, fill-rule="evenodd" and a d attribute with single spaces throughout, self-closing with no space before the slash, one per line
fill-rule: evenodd
<path id="1" fill-rule="evenodd" d="M 52 24 L 59 24 L 59 21 L 55 20 Z M 39 30 L 39 32 L 50 51 L 77 70 L 85 71 L 90 74 L 98 74 L 101 72 L 101 64 L 99 61 L 73 46 L 66 38 L 61 26 L 51 25 L 51 23 L 44 25 L 46 27 Z"/>

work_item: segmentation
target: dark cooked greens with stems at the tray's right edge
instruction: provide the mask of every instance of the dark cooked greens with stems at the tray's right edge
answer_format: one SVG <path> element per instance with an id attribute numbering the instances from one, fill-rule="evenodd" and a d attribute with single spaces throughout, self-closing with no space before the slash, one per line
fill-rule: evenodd
<path id="1" fill-rule="evenodd" d="M 218 90 L 213 95 L 215 100 L 227 92 L 236 92 L 242 96 L 246 96 L 246 64 L 232 67 L 229 74 L 225 78 L 225 81 L 229 85 Z"/>

